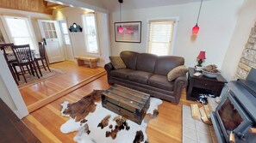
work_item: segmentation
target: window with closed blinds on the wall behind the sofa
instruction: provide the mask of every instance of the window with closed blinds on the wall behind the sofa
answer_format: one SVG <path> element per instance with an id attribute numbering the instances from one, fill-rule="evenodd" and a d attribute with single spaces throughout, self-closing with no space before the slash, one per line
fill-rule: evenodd
<path id="1" fill-rule="evenodd" d="M 174 23 L 174 20 L 149 21 L 149 53 L 158 56 L 170 55 Z"/>

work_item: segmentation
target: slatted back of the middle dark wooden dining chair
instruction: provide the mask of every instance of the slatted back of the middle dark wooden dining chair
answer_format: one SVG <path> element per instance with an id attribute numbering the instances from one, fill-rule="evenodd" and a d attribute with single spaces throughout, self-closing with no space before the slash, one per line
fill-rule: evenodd
<path id="1" fill-rule="evenodd" d="M 29 45 L 13 45 L 12 51 L 14 52 L 18 63 L 33 62 Z"/>

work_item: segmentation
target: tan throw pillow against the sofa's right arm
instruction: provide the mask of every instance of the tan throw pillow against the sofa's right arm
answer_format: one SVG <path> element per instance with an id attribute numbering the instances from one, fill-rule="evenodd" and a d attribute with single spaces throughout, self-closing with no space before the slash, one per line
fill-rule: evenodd
<path id="1" fill-rule="evenodd" d="M 177 79 L 179 76 L 183 76 L 188 72 L 189 69 L 187 69 L 184 65 L 178 66 L 174 69 L 172 69 L 168 74 L 167 74 L 167 79 L 169 81 Z"/>

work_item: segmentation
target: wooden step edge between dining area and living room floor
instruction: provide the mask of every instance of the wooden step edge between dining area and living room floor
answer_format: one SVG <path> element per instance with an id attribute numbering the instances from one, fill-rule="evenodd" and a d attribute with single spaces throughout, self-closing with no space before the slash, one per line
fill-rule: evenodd
<path id="1" fill-rule="evenodd" d="M 78 84 L 76 84 L 74 86 L 69 86 L 66 89 L 63 89 L 63 90 L 61 90 L 59 92 L 56 92 L 56 93 L 48 96 L 47 98 L 43 98 L 43 99 L 41 99 L 40 101 L 38 101 L 38 102 L 36 102 L 34 104 L 30 104 L 30 105 L 28 105 L 28 112 L 31 113 L 34 110 L 38 110 L 41 107 L 45 106 L 46 104 L 49 104 L 49 103 L 53 102 L 54 100 L 65 96 L 69 92 L 77 90 L 81 86 L 84 86 L 84 85 L 88 84 L 89 82 L 91 82 L 93 80 L 96 80 L 97 78 L 103 76 L 104 74 L 107 74 L 107 72 L 106 71 L 102 71 L 99 74 L 90 76 L 90 77 L 82 80 L 81 82 L 79 82 Z"/>

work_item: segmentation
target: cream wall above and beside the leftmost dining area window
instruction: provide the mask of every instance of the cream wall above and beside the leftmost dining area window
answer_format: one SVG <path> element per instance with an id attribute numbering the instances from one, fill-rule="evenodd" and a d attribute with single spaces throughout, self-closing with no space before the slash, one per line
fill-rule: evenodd
<path id="1" fill-rule="evenodd" d="M 0 15 L 9 15 L 9 16 L 17 16 L 17 17 L 28 17 L 30 18 L 33 30 L 34 30 L 34 36 L 37 41 L 42 41 L 40 28 L 38 25 L 37 20 L 51 20 L 52 15 L 46 15 L 41 13 L 34 13 L 34 12 L 28 12 L 28 11 L 22 11 L 22 10 L 15 10 L 15 9 L 2 9 L 0 8 Z M 1 31 L 3 34 L 6 34 L 3 27 L 1 27 Z M 4 37 L 6 42 L 9 43 L 9 39 L 7 37 Z"/>

